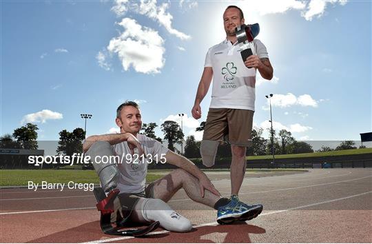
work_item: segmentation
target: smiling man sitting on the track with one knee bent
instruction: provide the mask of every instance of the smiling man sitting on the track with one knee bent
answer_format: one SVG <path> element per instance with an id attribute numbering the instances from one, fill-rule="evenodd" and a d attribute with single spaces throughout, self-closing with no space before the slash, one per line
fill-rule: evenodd
<path id="1" fill-rule="evenodd" d="M 234 211 L 229 210 L 230 200 L 220 196 L 211 181 L 194 163 L 168 150 L 158 141 L 138 134 L 142 121 L 137 103 L 126 101 L 118 107 L 116 125 L 121 130 L 120 134 L 89 136 L 83 143 L 83 151 L 90 156 L 106 193 L 118 189 L 119 196 L 125 194 L 136 199 L 130 206 L 130 219 L 135 223 L 158 221 L 161 227 L 172 232 L 191 230 L 192 223 L 166 203 L 181 187 L 193 201 L 218 210 L 218 223 L 247 220 L 259 214 L 248 210 L 244 204 L 234 207 Z M 116 157 L 116 162 L 101 163 L 98 159 L 103 156 Z M 118 157 L 123 160 L 118 161 Z M 147 163 L 151 160 L 170 163 L 179 168 L 162 179 L 145 185 Z M 119 218 L 123 218 L 123 206 L 118 201 L 114 203 L 112 222 L 117 222 Z"/>

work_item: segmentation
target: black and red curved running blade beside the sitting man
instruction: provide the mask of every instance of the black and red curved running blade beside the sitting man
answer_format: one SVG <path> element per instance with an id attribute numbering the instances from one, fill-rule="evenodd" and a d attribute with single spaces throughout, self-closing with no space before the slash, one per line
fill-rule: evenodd
<path id="1" fill-rule="evenodd" d="M 114 199 L 116 198 L 118 192 L 110 192 L 109 196 L 106 196 L 105 192 L 103 192 L 101 187 L 96 187 L 93 190 L 94 196 L 96 197 L 97 209 L 101 212 L 101 219 L 99 221 L 101 225 L 101 230 L 105 234 L 111 234 L 116 236 L 135 236 L 140 237 L 152 232 L 157 227 L 159 227 L 159 221 L 155 221 L 150 225 L 143 227 L 141 229 L 132 229 L 132 230 L 123 230 L 123 226 L 116 226 L 114 227 L 111 223 L 111 213 L 110 207 L 114 205 Z M 111 196 L 111 197 L 110 197 Z M 105 201 L 105 202 L 103 202 Z M 104 203 L 104 204 L 103 204 Z M 108 206 L 108 207 L 105 207 Z M 121 223 L 125 223 L 130 215 L 125 218 L 124 221 Z"/>

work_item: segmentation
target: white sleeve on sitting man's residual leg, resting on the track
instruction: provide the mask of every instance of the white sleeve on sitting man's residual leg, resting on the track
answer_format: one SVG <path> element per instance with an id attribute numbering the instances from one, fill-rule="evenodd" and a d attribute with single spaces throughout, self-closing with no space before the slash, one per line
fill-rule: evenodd
<path id="1" fill-rule="evenodd" d="M 146 199 L 142 204 L 142 215 L 146 221 L 159 221 L 161 227 L 171 232 L 189 232 L 192 230 L 192 223 L 172 210 L 163 200 Z"/>

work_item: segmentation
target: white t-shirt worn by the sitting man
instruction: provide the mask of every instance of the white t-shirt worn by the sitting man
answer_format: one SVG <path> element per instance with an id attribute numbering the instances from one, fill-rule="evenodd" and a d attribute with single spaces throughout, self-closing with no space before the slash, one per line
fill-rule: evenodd
<path id="1" fill-rule="evenodd" d="M 112 145 L 115 154 L 121 158 L 120 162 L 116 162 L 120 171 L 117 186 L 120 192 L 143 192 L 145 190 L 147 164 L 160 163 L 161 159 L 164 162 L 165 154 L 168 152 L 168 148 L 165 148 L 160 142 L 143 134 L 137 134 L 137 139 L 141 142 L 147 159 L 142 160 L 138 157 L 138 154 L 132 156 L 126 141 Z"/>

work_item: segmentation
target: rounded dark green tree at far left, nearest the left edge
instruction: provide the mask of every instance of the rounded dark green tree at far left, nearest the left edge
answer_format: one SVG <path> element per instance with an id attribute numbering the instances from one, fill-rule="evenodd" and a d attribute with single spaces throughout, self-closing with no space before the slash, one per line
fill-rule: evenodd
<path id="1" fill-rule="evenodd" d="M 37 125 L 27 123 L 25 126 L 15 129 L 13 137 L 21 149 L 37 150 L 37 130 L 39 130 Z"/>

